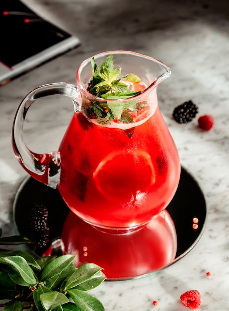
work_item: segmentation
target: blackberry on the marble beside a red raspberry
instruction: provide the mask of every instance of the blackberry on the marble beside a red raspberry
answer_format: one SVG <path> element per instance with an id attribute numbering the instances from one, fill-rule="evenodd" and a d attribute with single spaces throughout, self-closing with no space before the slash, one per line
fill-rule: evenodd
<path id="1" fill-rule="evenodd" d="M 187 123 L 192 121 L 198 113 L 198 107 L 191 101 L 185 101 L 173 110 L 173 118 L 178 123 Z"/>

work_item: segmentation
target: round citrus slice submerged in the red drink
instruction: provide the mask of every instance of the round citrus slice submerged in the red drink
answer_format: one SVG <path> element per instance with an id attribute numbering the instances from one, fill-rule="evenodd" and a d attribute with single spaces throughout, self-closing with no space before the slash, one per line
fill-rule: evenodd
<path id="1" fill-rule="evenodd" d="M 93 180 L 108 200 L 124 202 L 146 192 L 155 182 L 151 156 L 142 150 L 114 152 L 93 172 Z"/>

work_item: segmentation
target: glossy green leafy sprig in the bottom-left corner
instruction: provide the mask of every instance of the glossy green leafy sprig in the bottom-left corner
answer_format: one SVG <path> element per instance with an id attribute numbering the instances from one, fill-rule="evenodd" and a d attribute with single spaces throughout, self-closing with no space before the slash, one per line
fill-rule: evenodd
<path id="1" fill-rule="evenodd" d="M 0 230 L 1 234 L 1 230 Z M 23 237 L 7 238 L 24 243 Z M 6 245 L 5 238 L 0 244 Z M 102 303 L 87 293 L 104 280 L 102 268 L 85 263 L 76 268 L 75 255 L 44 256 L 35 260 L 21 250 L 0 248 L 0 307 L 4 311 L 105 311 Z"/>

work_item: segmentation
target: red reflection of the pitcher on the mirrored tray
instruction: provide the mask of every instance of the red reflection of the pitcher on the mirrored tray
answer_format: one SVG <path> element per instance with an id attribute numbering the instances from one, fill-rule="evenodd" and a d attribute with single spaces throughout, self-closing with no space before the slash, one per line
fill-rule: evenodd
<path id="1" fill-rule="evenodd" d="M 62 240 L 65 252 L 76 255 L 76 267 L 96 263 L 108 280 L 137 278 L 157 271 L 174 260 L 177 250 L 176 230 L 167 211 L 129 234 L 98 231 L 71 212 Z"/>

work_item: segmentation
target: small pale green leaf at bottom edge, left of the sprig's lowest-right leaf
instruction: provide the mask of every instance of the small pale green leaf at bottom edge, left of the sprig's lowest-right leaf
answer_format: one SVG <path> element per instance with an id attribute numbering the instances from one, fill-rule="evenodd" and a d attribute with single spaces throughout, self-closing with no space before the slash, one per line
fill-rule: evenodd
<path id="1" fill-rule="evenodd" d="M 40 300 L 45 311 L 52 311 L 56 307 L 69 302 L 68 298 L 59 292 L 41 294 Z"/>

